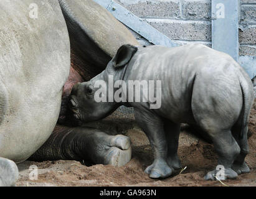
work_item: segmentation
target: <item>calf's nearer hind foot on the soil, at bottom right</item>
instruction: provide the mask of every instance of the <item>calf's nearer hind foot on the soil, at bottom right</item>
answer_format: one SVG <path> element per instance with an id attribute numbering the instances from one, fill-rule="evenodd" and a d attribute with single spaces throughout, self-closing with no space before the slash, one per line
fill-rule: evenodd
<path id="1" fill-rule="evenodd" d="M 225 168 L 224 171 L 212 170 L 204 176 L 204 180 L 226 180 L 226 179 L 235 179 L 237 178 L 237 173 L 230 168 Z"/>

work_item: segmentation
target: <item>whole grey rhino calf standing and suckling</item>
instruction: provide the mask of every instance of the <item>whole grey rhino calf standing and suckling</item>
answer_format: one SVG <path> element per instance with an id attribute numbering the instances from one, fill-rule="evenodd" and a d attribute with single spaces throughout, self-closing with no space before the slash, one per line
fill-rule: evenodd
<path id="1" fill-rule="evenodd" d="M 109 75 L 126 85 L 128 80 L 161 80 L 161 107 L 96 103 L 95 82 L 107 83 Z M 244 159 L 249 151 L 247 123 L 253 99 L 249 76 L 225 53 L 199 44 L 173 49 L 123 45 L 104 72 L 73 87 L 70 107 L 77 119 L 86 122 L 107 116 L 121 104 L 133 106 L 135 119 L 154 149 L 154 162 L 145 170 L 152 178 L 168 177 L 173 169 L 181 168 L 177 155 L 179 124 L 197 125 L 211 137 L 218 164 L 225 167 L 225 178 L 235 178 L 250 170 Z M 214 179 L 216 173 L 212 170 L 205 179 Z"/>

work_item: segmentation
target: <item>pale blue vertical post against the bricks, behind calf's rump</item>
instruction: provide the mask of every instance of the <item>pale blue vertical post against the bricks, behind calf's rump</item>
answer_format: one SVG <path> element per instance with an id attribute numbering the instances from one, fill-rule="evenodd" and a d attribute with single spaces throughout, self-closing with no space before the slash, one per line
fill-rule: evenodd
<path id="1" fill-rule="evenodd" d="M 239 0 L 212 0 L 212 49 L 239 60 Z"/>

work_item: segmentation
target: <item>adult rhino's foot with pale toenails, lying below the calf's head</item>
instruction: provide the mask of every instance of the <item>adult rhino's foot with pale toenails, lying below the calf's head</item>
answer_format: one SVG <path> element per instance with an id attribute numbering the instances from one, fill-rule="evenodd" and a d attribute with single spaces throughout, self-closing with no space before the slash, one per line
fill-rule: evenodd
<path id="1" fill-rule="evenodd" d="M 106 136 L 106 135 L 105 135 Z M 99 138 L 95 149 L 95 162 L 97 164 L 110 164 L 121 167 L 131 160 L 130 138 L 123 135 Z"/>

